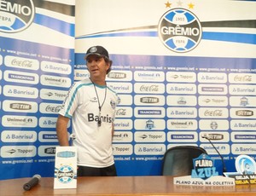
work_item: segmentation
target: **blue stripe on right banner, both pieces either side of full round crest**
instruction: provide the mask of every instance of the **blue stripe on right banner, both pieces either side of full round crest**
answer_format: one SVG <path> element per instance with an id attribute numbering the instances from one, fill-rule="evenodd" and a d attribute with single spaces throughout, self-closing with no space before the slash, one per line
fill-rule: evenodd
<path id="1" fill-rule="evenodd" d="M 96 37 L 158 37 L 158 32 L 111 32 L 106 34 L 94 34 L 76 37 L 76 39 Z M 202 39 L 256 44 L 256 35 L 236 32 L 202 32 Z"/>

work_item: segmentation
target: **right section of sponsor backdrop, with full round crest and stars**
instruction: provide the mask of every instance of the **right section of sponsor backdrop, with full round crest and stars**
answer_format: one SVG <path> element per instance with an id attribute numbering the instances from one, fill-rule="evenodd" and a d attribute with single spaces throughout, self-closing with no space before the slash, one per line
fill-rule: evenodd
<path id="1" fill-rule="evenodd" d="M 256 2 L 80 0 L 75 80 L 84 52 L 106 47 L 108 85 L 121 98 L 113 152 L 120 176 L 160 175 L 169 147 L 203 147 L 219 172 L 224 157 L 256 151 Z M 220 174 L 222 175 L 222 174 Z"/>

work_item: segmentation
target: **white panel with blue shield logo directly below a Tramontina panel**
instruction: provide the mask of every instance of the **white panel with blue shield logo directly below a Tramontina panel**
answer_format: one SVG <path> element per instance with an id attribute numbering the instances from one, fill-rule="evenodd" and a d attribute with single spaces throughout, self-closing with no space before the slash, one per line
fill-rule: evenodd
<path id="1" fill-rule="evenodd" d="M 136 119 L 134 128 L 136 130 L 165 130 L 166 121 L 164 119 Z"/>

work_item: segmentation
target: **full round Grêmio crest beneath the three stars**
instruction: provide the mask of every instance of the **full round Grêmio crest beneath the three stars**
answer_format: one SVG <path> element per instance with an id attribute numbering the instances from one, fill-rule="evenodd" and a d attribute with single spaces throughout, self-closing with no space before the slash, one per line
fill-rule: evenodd
<path id="1" fill-rule="evenodd" d="M 201 41 L 201 24 L 189 10 L 171 9 L 161 17 L 158 33 L 168 49 L 189 52 Z"/>

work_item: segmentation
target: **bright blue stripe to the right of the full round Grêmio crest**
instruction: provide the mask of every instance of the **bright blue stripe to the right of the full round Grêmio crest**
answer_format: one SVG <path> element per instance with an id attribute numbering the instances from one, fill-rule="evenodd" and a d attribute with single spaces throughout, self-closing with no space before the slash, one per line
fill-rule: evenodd
<path id="1" fill-rule="evenodd" d="M 203 32 L 202 39 L 256 44 L 256 35 L 235 32 Z"/>

